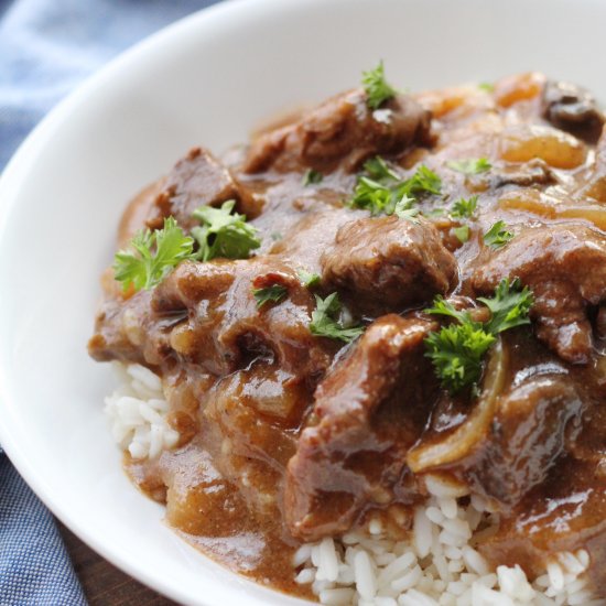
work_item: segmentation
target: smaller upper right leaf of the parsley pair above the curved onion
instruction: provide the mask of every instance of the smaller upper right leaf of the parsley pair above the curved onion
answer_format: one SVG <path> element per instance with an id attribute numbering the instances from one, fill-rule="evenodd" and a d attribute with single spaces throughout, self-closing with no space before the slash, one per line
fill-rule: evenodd
<path id="1" fill-rule="evenodd" d="M 534 297 L 528 286 L 520 290 L 520 285 L 518 278 L 511 283 L 504 279 L 491 299 L 478 297 L 478 301 L 481 301 L 493 314 L 486 324 L 486 329 L 489 333 L 496 335 L 516 326 L 530 324 L 528 312 Z"/>

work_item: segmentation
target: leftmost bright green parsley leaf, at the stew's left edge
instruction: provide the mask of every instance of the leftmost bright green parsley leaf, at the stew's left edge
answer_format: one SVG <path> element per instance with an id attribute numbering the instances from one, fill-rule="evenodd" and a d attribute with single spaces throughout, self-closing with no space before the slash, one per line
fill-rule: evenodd
<path id="1" fill-rule="evenodd" d="M 192 258 L 194 240 L 185 236 L 173 217 L 164 219 L 164 227 L 137 232 L 130 242 L 134 249 L 120 250 L 113 260 L 115 278 L 126 291 L 136 291 L 159 284 L 181 261 Z M 155 245 L 155 252 L 152 248 Z"/>

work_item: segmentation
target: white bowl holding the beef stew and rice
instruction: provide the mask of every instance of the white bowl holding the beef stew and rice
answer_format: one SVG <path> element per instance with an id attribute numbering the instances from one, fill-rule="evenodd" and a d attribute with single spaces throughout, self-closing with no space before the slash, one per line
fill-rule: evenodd
<path id="1" fill-rule="evenodd" d="M 380 57 L 412 89 L 539 69 L 606 98 L 604 23 L 602 0 L 234 1 L 112 62 L 0 182 L 0 443 L 26 481 L 174 599 L 296 604 L 190 548 L 121 470 L 101 413 L 109 370 L 86 342 L 125 203 L 190 147 L 220 152 L 274 111 L 356 86 Z"/>

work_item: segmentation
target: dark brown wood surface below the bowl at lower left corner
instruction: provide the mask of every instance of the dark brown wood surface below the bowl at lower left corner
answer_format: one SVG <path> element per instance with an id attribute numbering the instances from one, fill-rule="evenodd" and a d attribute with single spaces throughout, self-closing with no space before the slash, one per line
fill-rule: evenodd
<path id="1" fill-rule="evenodd" d="M 90 606 L 174 606 L 175 603 L 119 571 L 57 521 Z"/>

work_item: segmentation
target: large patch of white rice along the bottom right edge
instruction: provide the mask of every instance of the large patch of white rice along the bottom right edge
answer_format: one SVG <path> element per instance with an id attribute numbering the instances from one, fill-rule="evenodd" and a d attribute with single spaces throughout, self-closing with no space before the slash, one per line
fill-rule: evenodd
<path id="1" fill-rule="evenodd" d="M 297 583 L 312 585 L 321 604 L 331 606 L 598 606 L 586 575 L 586 551 L 559 553 L 530 582 L 523 570 L 491 571 L 474 549 L 496 531 L 498 516 L 486 499 L 461 486 L 426 478 L 430 498 L 414 511 L 407 540 L 386 535 L 374 519 L 368 533 L 302 545 L 294 555 Z"/>

